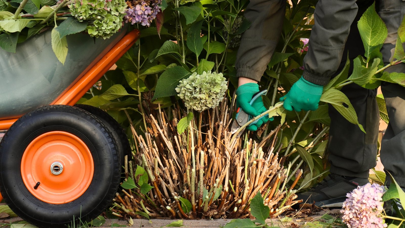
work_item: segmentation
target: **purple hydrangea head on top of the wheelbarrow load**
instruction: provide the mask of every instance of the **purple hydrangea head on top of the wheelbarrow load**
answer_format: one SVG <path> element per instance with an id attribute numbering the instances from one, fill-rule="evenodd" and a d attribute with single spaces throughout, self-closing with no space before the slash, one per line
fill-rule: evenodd
<path id="1" fill-rule="evenodd" d="M 125 22 L 131 24 L 142 24 L 150 26 L 153 19 L 160 11 L 162 0 L 134 0 L 127 1 L 130 7 L 125 13 Z"/>

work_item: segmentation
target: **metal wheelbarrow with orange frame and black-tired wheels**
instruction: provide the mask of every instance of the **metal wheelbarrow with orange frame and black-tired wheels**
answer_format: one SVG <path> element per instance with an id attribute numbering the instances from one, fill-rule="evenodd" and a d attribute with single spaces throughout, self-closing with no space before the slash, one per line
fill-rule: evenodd
<path id="1" fill-rule="evenodd" d="M 62 65 L 51 32 L 0 50 L 0 192 L 22 219 L 72 226 L 107 209 L 130 146 L 106 112 L 77 101 L 136 42 L 122 29 L 110 39 L 67 37 Z"/>

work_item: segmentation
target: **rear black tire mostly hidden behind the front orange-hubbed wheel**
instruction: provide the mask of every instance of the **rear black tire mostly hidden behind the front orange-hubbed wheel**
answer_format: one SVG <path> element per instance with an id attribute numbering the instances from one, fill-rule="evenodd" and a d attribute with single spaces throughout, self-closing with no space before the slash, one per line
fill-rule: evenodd
<path id="1" fill-rule="evenodd" d="M 131 159 L 131 146 L 128 141 L 128 137 L 124 129 L 119 125 L 117 120 L 115 120 L 110 114 L 104 112 L 99 108 L 96 108 L 91 105 L 76 104 L 75 107 L 81 108 L 90 112 L 97 118 L 99 118 L 104 125 L 113 133 L 115 142 L 117 142 L 117 151 L 121 156 L 122 164 L 124 164 L 124 156 L 128 155 L 128 161 Z"/>

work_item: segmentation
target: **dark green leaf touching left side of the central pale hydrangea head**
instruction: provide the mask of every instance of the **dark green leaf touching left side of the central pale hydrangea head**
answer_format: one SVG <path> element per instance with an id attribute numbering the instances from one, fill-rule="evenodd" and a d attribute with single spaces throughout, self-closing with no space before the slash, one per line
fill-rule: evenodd
<path id="1" fill-rule="evenodd" d="M 180 66 L 171 67 L 164 71 L 158 79 L 155 95 L 152 100 L 160 97 L 177 95 L 176 87 L 179 84 L 179 81 L 189 75 L 190 72 Z"/>

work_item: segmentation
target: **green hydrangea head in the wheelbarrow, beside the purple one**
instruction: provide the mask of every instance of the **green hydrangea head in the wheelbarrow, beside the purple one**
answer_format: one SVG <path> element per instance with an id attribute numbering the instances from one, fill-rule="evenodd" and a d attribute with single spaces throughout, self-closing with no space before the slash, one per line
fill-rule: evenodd
<path id="1" fill-rule="evenodd" d="M 80 22 L 89 21 L 90 36 L 107 39 L 122 28 L 127 5 L 125 0 L 75 0 L 69 8 Z"/>

